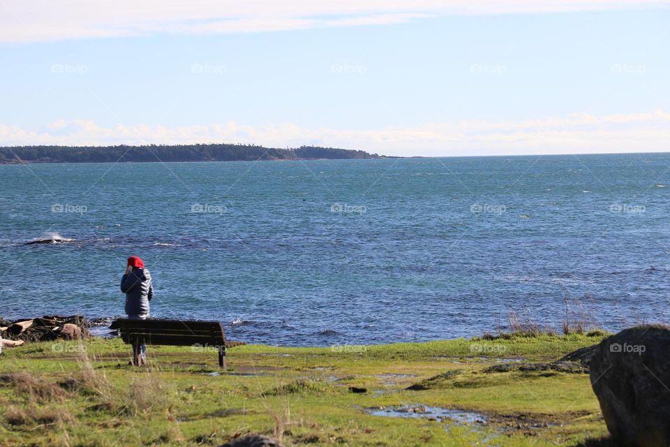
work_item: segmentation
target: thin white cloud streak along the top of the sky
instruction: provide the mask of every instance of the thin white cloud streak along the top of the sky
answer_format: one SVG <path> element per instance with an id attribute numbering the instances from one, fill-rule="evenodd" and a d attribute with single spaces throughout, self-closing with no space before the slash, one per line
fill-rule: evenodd
<path id="1" fill-rule="evenodd" d="M 666 0 L 22 0 L 0 2 L 0 42 L 392 24 L 429 15 L 667 6 Z"/>

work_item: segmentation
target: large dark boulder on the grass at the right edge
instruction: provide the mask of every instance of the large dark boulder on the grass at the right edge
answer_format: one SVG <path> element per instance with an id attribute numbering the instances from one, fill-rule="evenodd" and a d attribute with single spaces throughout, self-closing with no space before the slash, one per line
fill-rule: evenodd
<path id="1" fill-rule="evenodd" d="M 617 445 L 670 446 L 670 326 L 607 337 L 590 362 L 590 379 Z"/>

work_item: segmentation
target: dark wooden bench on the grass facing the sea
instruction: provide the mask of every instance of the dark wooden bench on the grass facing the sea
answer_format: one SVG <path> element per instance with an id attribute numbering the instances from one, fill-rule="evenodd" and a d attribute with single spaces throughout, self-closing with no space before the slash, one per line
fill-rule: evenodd
<path id="1" fill-rule="evenodd" d="M 130 320 L 118 318 L 110 325 L 117 329 L 121 339 L 133 345 L 133 365 L 140 365 L 140 345 L 193 346 L 198 349 L 216 349 L 218 365 L 225 369 L 225 350 L 245 342 L 227 342 L 223 325 L 217 321 L 185 320 Z"/>

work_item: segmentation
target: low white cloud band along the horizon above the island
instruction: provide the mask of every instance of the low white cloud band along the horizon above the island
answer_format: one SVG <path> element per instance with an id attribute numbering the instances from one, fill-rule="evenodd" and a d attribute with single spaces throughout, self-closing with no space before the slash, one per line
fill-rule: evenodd
<path id="1" fill-rule="evenodd" d="M 105 127 L 84 120 L 59 120 L 31 130 L 0 124 L 0 141 L 5 145 L 80 146 L 242 142 L 270 147 L 344 147 L 402 156 L 665 152 L 670 151 L 670 113 L 575 113 L 523 122 L 464 121 L 364 131 L 307 129 L 297 124 L 256 127 L 235 122 Z"/>

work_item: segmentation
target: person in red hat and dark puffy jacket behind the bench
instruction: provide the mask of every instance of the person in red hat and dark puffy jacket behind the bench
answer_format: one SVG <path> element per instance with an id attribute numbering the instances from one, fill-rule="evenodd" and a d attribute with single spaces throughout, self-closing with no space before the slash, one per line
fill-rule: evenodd
<path id="1" fill-rule="evenodd" d="M 126 314 L 131 320 L 144 320 L 149 316 L 149 301 L 154 298 L 151 274 L 137 256 L 128 258 L 126 273 L 121 278 L 121 292 L 126 294 Z M 140 346 L 140 365 L 147 362 L 147 345 Z M 137 366 L 140 366 L 137 365 Z"/>

